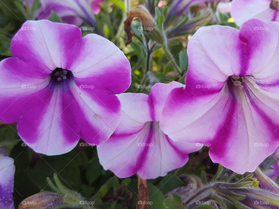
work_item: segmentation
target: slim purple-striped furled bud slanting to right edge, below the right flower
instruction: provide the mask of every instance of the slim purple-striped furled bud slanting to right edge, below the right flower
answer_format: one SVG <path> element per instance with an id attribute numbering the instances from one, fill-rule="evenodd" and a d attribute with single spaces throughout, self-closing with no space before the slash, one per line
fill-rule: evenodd
<path id="1" fill-rule="evenodd" d="M 255 177 L 260 182 L 260 187 L 276 194 L 279 194 L 279 185 L 264 174 L 259 167 L 254 172 Z"/>

